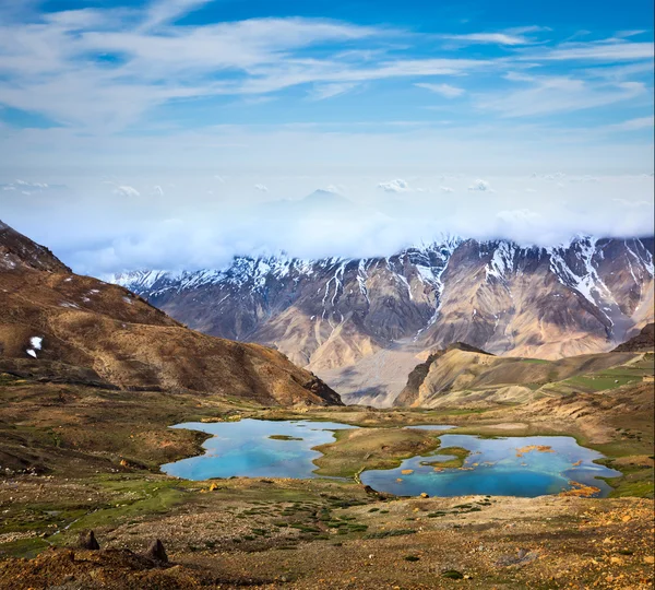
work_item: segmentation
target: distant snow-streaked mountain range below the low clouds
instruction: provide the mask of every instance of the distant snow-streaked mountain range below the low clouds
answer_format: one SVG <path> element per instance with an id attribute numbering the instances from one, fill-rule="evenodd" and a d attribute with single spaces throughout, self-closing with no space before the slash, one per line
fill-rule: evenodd
<path id="1" fill-rule="evenodd" d="M 406 375 L 416 354 L 453 342 L 550 359 L 612 350 L 653 321 L 653 248 L 449 238 L 390 258 L 236 258 L 114 281 L 191 328 L 275 346 L 349 400 L 386 403 L 403 385 L 389 386 L 382 365 Z"/>

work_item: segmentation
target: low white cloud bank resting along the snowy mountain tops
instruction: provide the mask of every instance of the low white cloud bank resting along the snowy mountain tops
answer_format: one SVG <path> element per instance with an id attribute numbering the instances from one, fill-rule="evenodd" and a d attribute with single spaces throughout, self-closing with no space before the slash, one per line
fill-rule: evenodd
<path id="1" fill-rule="evenodd" d="M 100 276 L 142 268 L 223 268 L 236 255 L 279 251 L 299 258 L 390 256 L 443 235 L 550 246 L 579 234 L 654 232 L 650 174 L 264 181 L 269 192 L 254 188 L 249 176 L 218 181 L 210 173 L 175 181 L 98 179 L 95 189 L 67 188 L 56 200 L 48 191 L 12 199 L 16 191 L 10 190 L 0 193 L 2 221 L 51 247 L 76 271 Z M 148 193 L 153 186 L 162 192 Z"/>

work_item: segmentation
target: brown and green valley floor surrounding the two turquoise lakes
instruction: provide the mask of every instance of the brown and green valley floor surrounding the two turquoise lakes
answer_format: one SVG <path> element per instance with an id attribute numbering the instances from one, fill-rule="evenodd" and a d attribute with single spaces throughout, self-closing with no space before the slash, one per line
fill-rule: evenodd
<path id="1" fill-rule="evenodd" d="M 652 388 L 641 386 L 524 406 L 376 411 L 262 409 L 4 376 L 0 588 L 651 588 L 652 409 Z M 388 427 L 448 423 L 462 433 L 573 435 L 623 476 L 604 499 L 397 498 L 355 480 L 190 482 L 157 472 L 200 452 L 205 437 L 170 424 L 239 416 L 376 427 L 383 444 L 373 450 L 348 439 L 323 448 L 327 474 L 397 463 L 407 440 Z M 88 529 L 100 551 L 74 548 Z M 154 539 L 168 565 L 141 556 Z"/>

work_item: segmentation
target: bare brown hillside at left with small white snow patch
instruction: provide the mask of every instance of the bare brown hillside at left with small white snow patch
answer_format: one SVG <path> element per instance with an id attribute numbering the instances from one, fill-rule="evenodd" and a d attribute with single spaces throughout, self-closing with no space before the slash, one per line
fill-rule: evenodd
<path id="1" fill-rule="evenodd" d="M 0 370 L 263 404 L 341 403 L 279 352 L 189 330 L 123 287 L 73 274 L 5 224 L 0 225 Z"/>

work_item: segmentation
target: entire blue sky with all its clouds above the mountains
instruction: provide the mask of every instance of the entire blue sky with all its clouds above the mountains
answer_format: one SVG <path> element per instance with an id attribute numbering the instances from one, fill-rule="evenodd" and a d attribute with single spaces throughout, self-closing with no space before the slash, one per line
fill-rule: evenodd
<path id="1" fill-rule="evenodd" d="M 652 235 L 653 17 L 0 0 L 0 219 L 95 275 Z"/>

